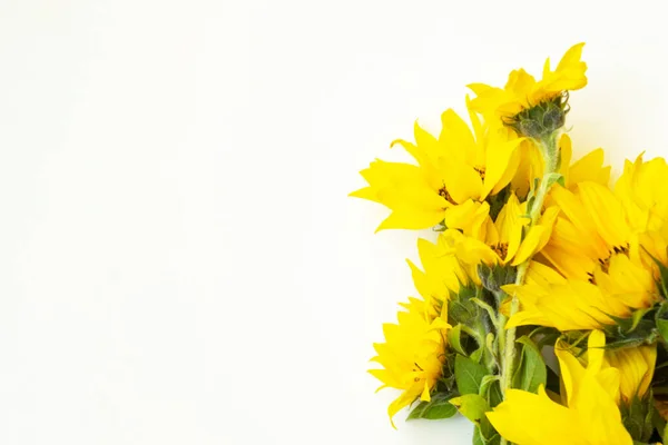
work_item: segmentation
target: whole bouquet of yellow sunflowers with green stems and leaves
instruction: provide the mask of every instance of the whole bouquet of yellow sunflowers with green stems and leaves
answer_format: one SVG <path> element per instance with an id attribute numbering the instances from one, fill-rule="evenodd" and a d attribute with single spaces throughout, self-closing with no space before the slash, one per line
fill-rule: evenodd
<path id="1" fill-rule="evenodd" d="M 537 80 L 473 83 L 468 122 L 395 140 L 412 164 L 374 160 L 352 196 L 382 229 L 432 228 L 409 261 L 419 296 L 383 326 L 370 373 L 394 388 L 390 421 L 461 413 L 473 444 L 667 441 L 668 165 L 602 149 L 572 159 L 569 95 L 583 44 Z"/>

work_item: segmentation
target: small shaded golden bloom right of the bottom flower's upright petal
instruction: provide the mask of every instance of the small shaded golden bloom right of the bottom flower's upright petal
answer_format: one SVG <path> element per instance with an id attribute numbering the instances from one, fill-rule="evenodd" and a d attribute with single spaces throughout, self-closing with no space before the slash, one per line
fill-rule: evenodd
<path id="1" fill-rule="evenodd" d="M 649 389 L 657 362 L 657 345 L 608 349 L 607 366 L 619 369 L 621 398 L 629 405 L 635 397 L 642 398 Z"/>

